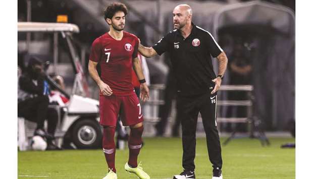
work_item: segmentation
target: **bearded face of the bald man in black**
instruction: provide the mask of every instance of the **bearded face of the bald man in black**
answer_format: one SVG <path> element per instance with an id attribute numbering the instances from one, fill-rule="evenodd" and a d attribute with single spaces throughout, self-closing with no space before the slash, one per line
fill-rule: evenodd
<path id="1" fill-rule="evenodd" d="M 187 21 L 189 20 L 189 18 L 190 18 L 190 15 L 188 11 L 183 7 L 177 6 L 173 10 L 174 29 L 183 28 L 187 24 Z"/>

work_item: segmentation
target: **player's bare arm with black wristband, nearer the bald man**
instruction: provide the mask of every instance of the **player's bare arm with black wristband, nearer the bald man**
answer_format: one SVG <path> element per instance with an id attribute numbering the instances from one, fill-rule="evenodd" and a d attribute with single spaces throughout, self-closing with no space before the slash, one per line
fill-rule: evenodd
<path id="1" fill-rule="evenodd" d="M 149 99 L 149 88 L 147 86 L 147 83 L 145 82 L 141 64 L 138 57 L 133 58 L 133 69 L 140 82 L 140 99 L 142 101 L 146 101 L 147 99 Z"/>

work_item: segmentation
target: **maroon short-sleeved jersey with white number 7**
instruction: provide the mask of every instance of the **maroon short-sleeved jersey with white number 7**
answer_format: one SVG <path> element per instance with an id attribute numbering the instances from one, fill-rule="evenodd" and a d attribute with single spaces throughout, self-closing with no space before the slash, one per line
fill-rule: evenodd
<path id="1" fill-rule="evenodd" d="M 105 33 L 92 43 L 89 59 L 100 64 L 101 80 L 110 86 L 113 95 L 133 93 L 132 59 L 137 57 L 138 44 L 138 38 L 125 31 L 122 40 Z"/>

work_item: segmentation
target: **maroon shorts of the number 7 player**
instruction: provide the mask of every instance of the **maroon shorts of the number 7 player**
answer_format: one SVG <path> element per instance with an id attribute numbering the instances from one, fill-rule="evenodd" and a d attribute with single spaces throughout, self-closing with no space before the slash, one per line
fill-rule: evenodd
<path id="1" fill-rule="evenodd" d="M 99 96 L 100 125 L 115 126 L 118 114 L 123 126 L 143 122 L 141 106 L 135 92 L 129 96 Z"/>

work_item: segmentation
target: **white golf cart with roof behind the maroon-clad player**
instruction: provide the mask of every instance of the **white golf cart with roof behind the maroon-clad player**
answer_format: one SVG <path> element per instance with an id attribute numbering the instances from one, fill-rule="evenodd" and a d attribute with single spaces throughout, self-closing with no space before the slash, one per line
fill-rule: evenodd
<path id="1" fill-rule="evenodd" d="M 74 72 L 74 84 L 71 94 L 67 93 L 48 75 L 46 79 L 50 86 L 55 87 L 64 96 L 69 99 L 64 106 L 51 105 L 55 107 L 59 114 L 59 121 L 55 137 L 57 138 L 57 145 L 62 146 L 64 142 L 69 143 L 74 148 L 98 148 L 101 146 L 102 132 L 98 123 L 98 105 L 99 101 L 89 98 L 88 84 L 84 76 L 83 68 L 79 61 L 78 54 L 73 44 L 73 33 L 79 33 L 79 28 L 75 24 L 68 23 L 37 23 L 37 22 L 18 22 L 18 34 L 26 33 L 26 40 L 18 39 L 19 43 L 23 43 L 26 47 L 24 51 L 28 54 L 29 48 L 32 44 L 30 41 L 30 33 L 36 35 L 48 34 L 48 45 L 53 47 L 53 71 L 57 71 L 60 67 L 59 59 L 59 40 L 62 39 L 68 48 L 70 62 Z M 25 34 L 24 34 L 25 35 Z M 61 35 L 62 38 L 59 38 Z M 53 42 L 53 43 L 51 43 Z M 20 44 L 18 44 L 20 45 Z M 40 45 L 39 45 L 40 47 Z M 49 55 L 51 56 L 51 55 Z M 35 123 L 26 121 L 24 118 L 18 119 L 18 146 L 19 149 L 27 150 L 30 148 L 29 139 L 33 136 L 35 130 Z M 73 145 L 74 144 L 74 145 Z"/>

